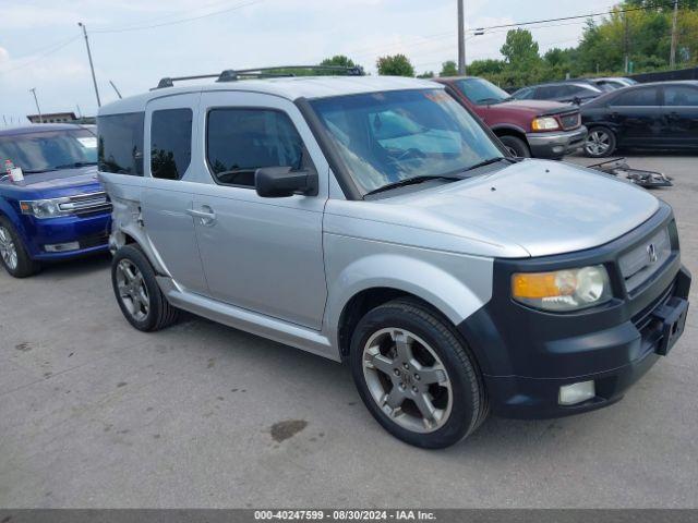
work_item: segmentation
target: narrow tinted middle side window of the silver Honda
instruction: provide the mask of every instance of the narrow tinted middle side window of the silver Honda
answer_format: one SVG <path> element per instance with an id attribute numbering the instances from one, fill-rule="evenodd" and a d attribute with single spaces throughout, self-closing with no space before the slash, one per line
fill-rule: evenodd
<path id="1" fill-rule="evenodd" d="M 151 174 L 181 180 L 192 158 L 192 110 L 153 111 L 151 121 Z"/>

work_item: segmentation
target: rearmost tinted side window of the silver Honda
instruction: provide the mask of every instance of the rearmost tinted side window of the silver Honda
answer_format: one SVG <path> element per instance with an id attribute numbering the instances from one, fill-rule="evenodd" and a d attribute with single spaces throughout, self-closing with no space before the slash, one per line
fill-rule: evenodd
<path id="1" fill-rule="evenodd" d="M 143 112 L 97 118 L 99 170 L 143 175 Z"/>

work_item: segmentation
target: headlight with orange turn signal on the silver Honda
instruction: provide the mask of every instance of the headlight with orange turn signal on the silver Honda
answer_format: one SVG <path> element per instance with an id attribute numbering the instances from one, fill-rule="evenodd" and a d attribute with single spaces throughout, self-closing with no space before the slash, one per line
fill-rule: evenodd
<path id="1" fill-rule="evenodd" d="M 579 311 L 613 297 L 609 272 L 602 265 L 552 272 L 517 272 L 512 277 L 517 302 L 552 312 Z"/>

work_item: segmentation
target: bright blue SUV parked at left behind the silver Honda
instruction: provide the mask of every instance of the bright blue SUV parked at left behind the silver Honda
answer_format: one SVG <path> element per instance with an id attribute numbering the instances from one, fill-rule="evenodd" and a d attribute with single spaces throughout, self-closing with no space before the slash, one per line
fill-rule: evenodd
<path id="1" fill-rule="evenodd" d="M 0 263 L 11 276 L 108 251 L 111 204 L 97 180 L 97 148 L 86 126 L 0 130 L 0 160 L 24 175 L 0 172 Z"/>

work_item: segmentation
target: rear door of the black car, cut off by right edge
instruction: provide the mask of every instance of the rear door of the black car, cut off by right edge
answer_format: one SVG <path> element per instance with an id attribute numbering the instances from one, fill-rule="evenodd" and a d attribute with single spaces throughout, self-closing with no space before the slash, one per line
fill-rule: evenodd
<path id="1" fill-rule="evenodd" d="M 698 86 L 664 85 L 664 136 L 672 147 L 698 146 Z"/>

